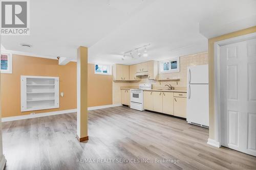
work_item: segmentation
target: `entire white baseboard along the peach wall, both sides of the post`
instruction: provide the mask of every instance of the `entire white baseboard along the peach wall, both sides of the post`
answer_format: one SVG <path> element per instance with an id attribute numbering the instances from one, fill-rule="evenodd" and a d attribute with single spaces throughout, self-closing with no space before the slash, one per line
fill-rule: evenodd
<path id="1" fill-rule="evenodd" d="M 122 105 L 118 103 L 113 105 L 95 106 L 95 107 L 89 107 L 88 110 L 104 109 L 104 108 L 110 108 L 110 107 L 116 107 L 116 106 L 122 106 Z M 35 117 L 51 116 L 56 114 L 74 113 L 76 111 L 77 111 L 76 109 L 70 109 L 70 110 L 60 110 L 60 111 L 46 112 L 46 113 L 26 114 L 21 116 L 3 117 L 2 122 L 9 122 L 14 120 L 22 120 L 22 119 L 35 118 Z"/>

